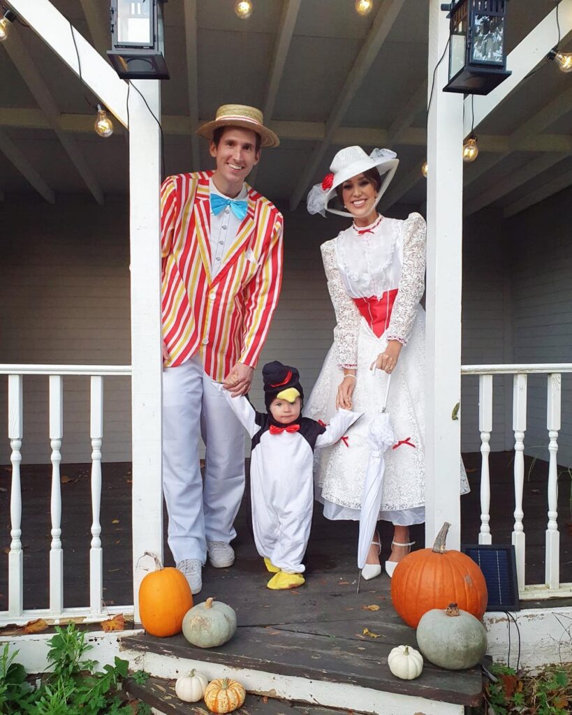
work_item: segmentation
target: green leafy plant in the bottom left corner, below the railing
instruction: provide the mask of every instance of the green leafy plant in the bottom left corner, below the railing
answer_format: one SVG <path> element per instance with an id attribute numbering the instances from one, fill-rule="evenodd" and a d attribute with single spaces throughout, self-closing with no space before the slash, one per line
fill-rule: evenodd
<path id="1" fill-rule="evenodd" d="M 48 641 L 51 672 L 32 686 L 24 666 L 9 654 L 8 644 L 0 655 L 0 713 L 6 715 L 149 715 L 146 704 L 122 699 L 120 683 L 127 678 L 128 663 L 115 658 L 113 665 L 96 671 L 96 661 L 84 656 L 92 649 L 86 634 L 73 623 L 56 627 Z M 137 671 L 134 678 L 144 683 L 149 675 Z"/>

